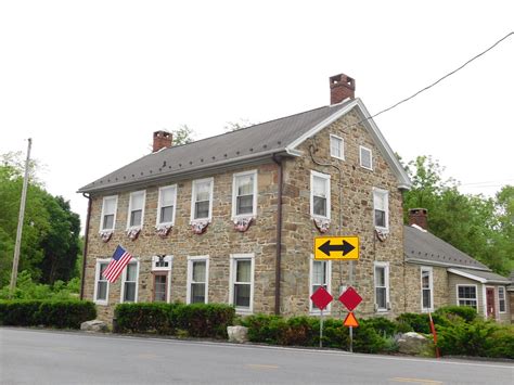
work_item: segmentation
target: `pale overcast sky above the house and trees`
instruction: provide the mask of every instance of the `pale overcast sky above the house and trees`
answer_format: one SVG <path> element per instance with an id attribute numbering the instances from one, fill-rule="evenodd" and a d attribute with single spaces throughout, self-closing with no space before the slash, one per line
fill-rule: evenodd
<path id="1" fill-rule="evenodd" d="M 48 191 L 86 217 L 80 187 L 150 152 L 153 131 L 196 139 L 228 121 L 330 103 L 345 73 L 370 113 L 514 30 L 513 1 L 3 1 L 0 154 L 44 164 Z M 464 193 L 514 183 L 514 36 L 375 118 L 404 161 L 432 155 Z"/>

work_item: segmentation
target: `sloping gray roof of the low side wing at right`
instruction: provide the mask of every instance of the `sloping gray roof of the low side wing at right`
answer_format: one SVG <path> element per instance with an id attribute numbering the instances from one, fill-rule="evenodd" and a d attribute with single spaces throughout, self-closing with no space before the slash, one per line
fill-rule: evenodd
<path id="1" fill-rule="evenodd" d="M 407 260 L 490 271 L 484 264 L 429 232 L 411 226 L 404 226 L 403 229 L 403 253 Z"/>

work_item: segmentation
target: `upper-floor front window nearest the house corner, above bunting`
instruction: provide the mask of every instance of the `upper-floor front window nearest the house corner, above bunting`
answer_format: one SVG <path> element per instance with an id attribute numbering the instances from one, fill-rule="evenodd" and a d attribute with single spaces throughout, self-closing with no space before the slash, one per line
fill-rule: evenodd
<path id="1" fill-rule="evenodd" d="M 234 174 L 232 218 L 257 215 L 257 170 Z"/>

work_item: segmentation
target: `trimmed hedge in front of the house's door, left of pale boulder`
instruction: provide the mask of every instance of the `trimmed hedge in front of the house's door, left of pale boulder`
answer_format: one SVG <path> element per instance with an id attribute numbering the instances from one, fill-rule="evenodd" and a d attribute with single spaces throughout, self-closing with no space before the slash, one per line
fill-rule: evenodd
<path id="1" fill-rule="evenodd" d="M 115 332 L 227 338 L 235 309 L 223 304 L 120 304 Z"/>

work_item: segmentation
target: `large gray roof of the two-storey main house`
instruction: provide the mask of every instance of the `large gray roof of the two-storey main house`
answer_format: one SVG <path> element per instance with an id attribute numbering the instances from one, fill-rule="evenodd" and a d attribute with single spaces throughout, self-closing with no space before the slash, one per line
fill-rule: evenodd
<path id="1" fill-rule="evenodd" d="M 351 100 L 262 123 L 184 145 L 164 149 L 89 183 L 78 192 L 95 192 L 165 179 L 197 169 L 258 158 L 285 151 L 287 144 L 345 108 Z"/>

